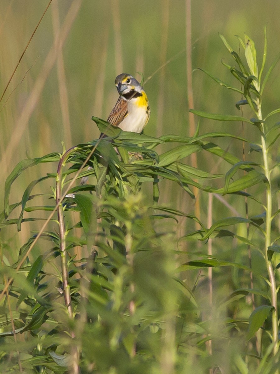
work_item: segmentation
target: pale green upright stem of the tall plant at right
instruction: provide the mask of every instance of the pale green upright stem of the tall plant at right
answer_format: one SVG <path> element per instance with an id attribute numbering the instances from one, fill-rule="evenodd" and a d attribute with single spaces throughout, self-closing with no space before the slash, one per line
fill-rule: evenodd
<path id="1" fill-rule="evenodd" d="M 262 120 L 262 112 L 261 112 L 261 101 L 259 99 L 256 100 L 256 104 L 258 107 L 258 119 Z M 274 355 L 277 354 L 277 342 L 278 342 L 278 310 L 277 310 L 277 286 L 276 280 L 274 275 L 274 270 L 271 261 L 268 259 L 267 250 L 268 247 L 271 245 L 271 216 L 272 216 L 272 191 L 271 191 L 271 180 L 270 180 L 270 169 L 268 165 L 268 150 L 266 145 L 266 137 L 265 137 L 265 127 L 264 123 L 261 122 L 261 144 L 262 144 L 262 157 L 264 162 L 264 171 L 265 176 L 268 181 L 268 186 L 266 188 L 266 220 L 265 220 L 265 262 L 267 266 L 267 272 L 270 280 L 270 292 L 271 292 L 271 305 L 274 307 L 272 311 L 272 337 L 273 337 L 273 353 Z"/>

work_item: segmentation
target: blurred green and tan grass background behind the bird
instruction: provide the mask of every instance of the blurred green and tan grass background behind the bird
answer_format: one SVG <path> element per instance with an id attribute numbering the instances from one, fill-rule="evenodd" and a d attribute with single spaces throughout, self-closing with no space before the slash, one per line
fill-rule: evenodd
<path id="1" fill-rule="evenodd" d="M 47 4 L 48 1 L 37 0 L 0 2 L 0 94 Z M 193 1 L 190 15 L 193 68 L 204 68 L 228 83 L 233 82 L 221 59 L 225 58 L 225 62 L 232 65 L 233 60 L 218 33 L 238 49 L 235 35 L 243 38 L 246 32 L 255 41 L 261 64 L 266 24 L 267 66 L 270 66 L 279 52 L 279 12 L 277 0 L 268 3 L 260 0 Z M 1 209 L 4 181 L 19 161 L 27 156 L 40 157 L 62 151 L 61 141 L 69 148 L 99 137 L 91 116 L 107 118 L 118 98 L 114 79 L 122 72 L 133 74 L 139 80 L 137 71 L 144 74 L 145 80 L 152 76 L 144 86 L 151 107 L 145 129 L 147 135 L 189 135 L 188 17 L 183 0 L 52 1 L 0 103 Z M 220 88 L 201 71 L 193 73 L 193 95 L 196 109 L 240 114 L 235 108 L 239 95 Z M 279 97 L 278 67 L 266 87 L 265 97 L 264 114 L 279 106 L 276 101 Z M 246 110 L 244 116 L 249 113 Z M 240 124 L 234 126 L 234 123 L 205 119 L 200 120 L 200 128 L 201 133 L 223 128 L 242 136 Z M 251 127 L 245 132 L 245 137 L 256 141 Z M 217 140 L 217 143 L 223 148 L 230 147 L 231 152 L 242 157 L 240 143 L 237 149 L 234 149 L 234 142 L 223 144 L 223 140 Z M 223 172 L 227 170 L 224 165 L 217 165 L 214 157 L 205 159 L 203 154 L 199 154 L 198 166 L 212 172 L 218 172 L 217 168 L 222 168 Z M 28 169 L 13 188 L 10 203 L 21 200 L 29 181 L 54 171 L 54 164 Z M 50 183 L 47 181 L 45 186 L 48 192 Z M 236 201 L 236 197 L 232 199 Z M 193 211 L 193 201 L 187 194 L 178 195 L 174 184 L 167 183 L 166 188 L 162 188 L 160 202 L 177 208 L 184 204 L 186 211 Z M 203 214 L 206 211 L 203 197 L 200 206 Z M 241 205 L 240 214 L 243 213 Z M 219 209 L 215 210 L 213 219 L 217 220 L 220 214 Z M 28 226 L 25 227 L 18 237 L 21 243 L 29 237 Z"/>

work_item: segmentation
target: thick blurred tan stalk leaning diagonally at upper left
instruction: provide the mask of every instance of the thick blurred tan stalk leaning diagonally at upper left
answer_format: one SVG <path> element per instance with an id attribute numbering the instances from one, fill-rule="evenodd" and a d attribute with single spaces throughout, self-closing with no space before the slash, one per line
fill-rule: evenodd
<path id="1" fill-rule="evenodd" d="M 13 129 L 13 136 L 10 139 L 6 151 L 2 157 L 1 163 L 2 165 L 9 165 L 10 161 L 13 158 L 13 155 L 16 152 L 16 148 L 18 147 L 19 142 L 22 140 L 22 136 L 25 132 L 25 129 L 28 125 L 28 121 L 33 113 L 38 100 L 40 98 L 41 92 L 44 88 L 46 83 L 47 77 L 49 76 L 50 71 L 52 70 L 53 65 L 56 62 L 57 56 L 59 55 L 59 51 L 66 40 L 66 37 L 69 34 L 71 26 L 77 16 L 77 13 L 81 6 L 81 0 L 72 1 L 71 6 L 69 7 L 68 13 L 65 17 L 65 21 L 60 29 L 59 37 L 57 43 L 53 43 L 42 69 L 37 77 L 35 85 L 27 99 L 27 102 L 22 110 L 21 115 L 19 116 L 18 121 L 16 122 L 16 126 Z M 7 167 L 7 166 L 6 166 Z"/>

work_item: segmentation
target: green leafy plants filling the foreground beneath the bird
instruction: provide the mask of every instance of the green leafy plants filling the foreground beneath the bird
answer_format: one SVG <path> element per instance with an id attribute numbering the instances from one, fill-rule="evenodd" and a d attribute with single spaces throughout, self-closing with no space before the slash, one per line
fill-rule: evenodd
<path id="1" fill-rule="evenodd" d="M 236 126 L 244 122 L 259 132 L 261 144 L 251 144 L 260 150 L 257 161 L 241 160 L 212 142 L 235 141 L 241 155 L 242 143 L 249 139 L 227 132 L 200 135 L 197 130 L 193 138 L 153 138 L 122 132 L 93 117 L 108 137 L 61 155 L 23 160 L 7 178 L 1 229 L 16 225 L 22 230 L 27 221 L 45 220 L 46 226 L 33 232 L 18 251 L 1 243 L 2 373 L 68 373 L 69 368 L 74 373 L 75 365 L 80 373 L 180 374 L 192 367 L 197 373 L 277 373 L 279 278 L 272 260 L 279 253 L 273 224 L 279 211 L 273 203 L 271 170 L 276 160 L 271 150 L 279 133 L 269 143 L 267 137 L 279 126 L 261 116 L 263 87 L 272 69 L 261 82 L 266 52 L 258 73 L 255 46 L 248 36 L 245 42 L 238 38 L 247 65 L 221 39 L 238 67 L 223 64 L 242 90 L 203 71 L 242 95 L 237 109 L 248 105 L 254 117 L 192 112 L 234 121 Z M 278 110 L 267 118 L 275 113 Z M 213 157 L 227 171 L 212 174 L 189 166 L 188 157 L 194 153 Z M 19 175 L 43 162 L 58 162 L 57 174 L 32 181 L 20 202 L 9 202 Z M 91 169 L 83 169 L 85 162 Z M 90 184 L 72 184 L 77 172 L 77 181 L 89 176 Z M 32 195 L 47 178 L 56 189 Z M 158 204 L 166 181 L 175 183 L 186 198 L 195 198 L 196 187 L 202 196 L 224 195 L 233 206 L 238 197 L 257 208 L 251 218 L 250 212 L 247 217 L 228 217 L 221 209 L 207 227 L 195 215 Z M 36 199 L 46 204 L 37 205 Z M 18 217 L 11 217 L 19 206 Z M 50 209 L 51 224 L 44 216 L 32 216 Z M 53 219 L 56 209 L 62 214 Z M 207 252 L 209 240 L 214 255 Z M 213 279 L 207 278 L 210 268 Z"/>

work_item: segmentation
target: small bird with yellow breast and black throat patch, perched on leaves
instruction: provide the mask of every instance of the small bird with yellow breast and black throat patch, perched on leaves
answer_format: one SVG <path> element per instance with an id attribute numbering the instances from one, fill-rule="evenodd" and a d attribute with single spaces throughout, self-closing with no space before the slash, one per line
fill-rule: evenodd
<path id="1" fill-rule="evenodd" d="M 119 98 L 113 107 L 107 122 L 112 126 L 119 127 L 123 131 L 141 133 L 150 119 L 150 105 L 147 94 L 132 75 L 127 73 L 119 74 L 115 79 L 115 86 Z M 100 134 L 99 138 L 105 138 Z M 88 177 L 81 179 L 85 184 Z"/>

